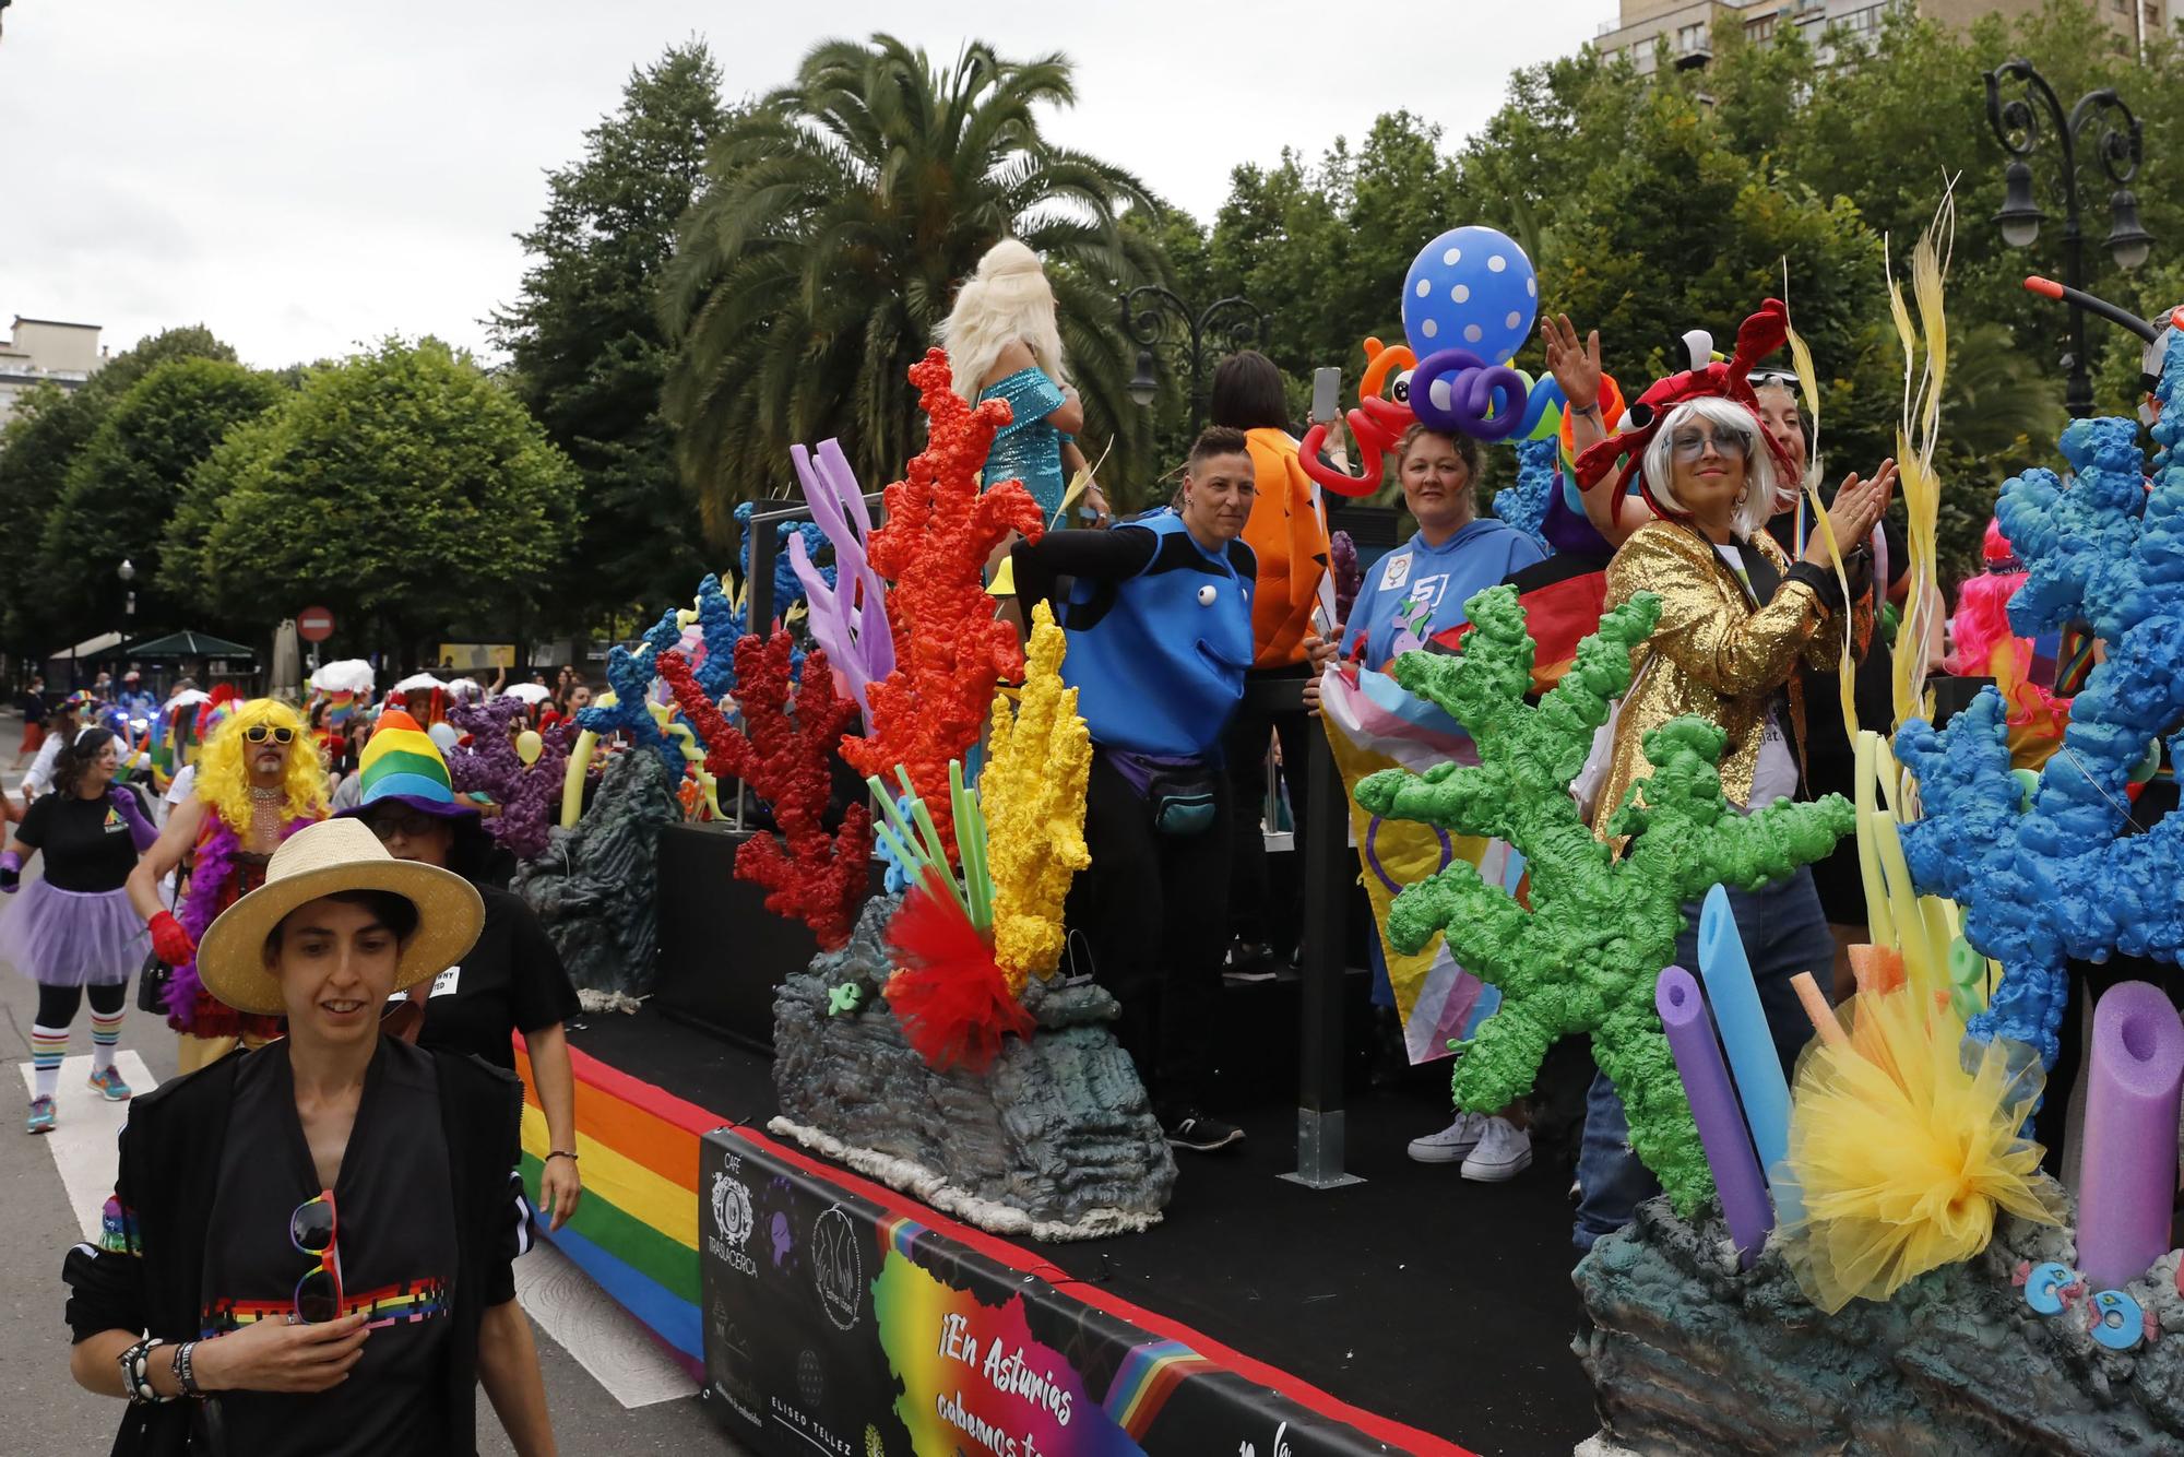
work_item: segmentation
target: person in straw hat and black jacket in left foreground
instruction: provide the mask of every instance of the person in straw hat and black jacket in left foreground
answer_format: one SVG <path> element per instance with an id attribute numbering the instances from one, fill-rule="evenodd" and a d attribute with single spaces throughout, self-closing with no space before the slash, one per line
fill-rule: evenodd
<path id="1" fill-rule="evenodd" d="M 290 837 L 205 931 L 205 990 L 288 1035 L 140 1097 L 103 1239 L 70 1249 L 70 1374 L 114 1453 L 472 1453 L 483 1385 L 555 1450 L 513 1260 L 522 1088 L 380 1035 L 485 907 L 349 819 Z"/>

